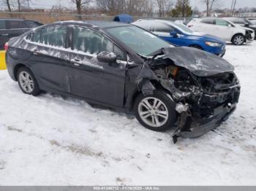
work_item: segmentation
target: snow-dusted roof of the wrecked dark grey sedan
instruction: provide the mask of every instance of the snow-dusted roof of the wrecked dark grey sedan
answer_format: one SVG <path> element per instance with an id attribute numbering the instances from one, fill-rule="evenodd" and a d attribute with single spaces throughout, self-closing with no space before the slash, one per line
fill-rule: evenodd
<path id="1" fill-rule="evenodd" d="M 67 21 L 59 21 L 58 23 L 68 23 L 68 24 L 79 24 L 85 26 L 91 26 L 94 28 L 113 28 L 118 26 L 132 26 L 127 23 L 115 22 L 115 21 L 99 21 L 99 20 L 67 20 Z M 55 23 L 55 24 L 56 24 Z"/>

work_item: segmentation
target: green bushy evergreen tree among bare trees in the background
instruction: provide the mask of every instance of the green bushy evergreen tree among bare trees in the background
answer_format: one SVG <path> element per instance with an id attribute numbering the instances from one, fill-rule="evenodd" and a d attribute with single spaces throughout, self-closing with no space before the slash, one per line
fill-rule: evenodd
<path id="1" fill-rule="evenodd" d="M 177 0 L 176 6 L 171 10 L 172 17 L 191 17 L 192 7 L 189 5 L 189 0 Z"/>

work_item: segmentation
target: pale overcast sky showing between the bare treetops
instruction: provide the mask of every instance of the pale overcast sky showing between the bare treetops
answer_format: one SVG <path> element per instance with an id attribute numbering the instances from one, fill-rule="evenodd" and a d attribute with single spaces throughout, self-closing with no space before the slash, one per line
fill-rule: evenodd
<path id="1" fill-rule="evenodd" d="M 175 1 L 175 0 L 173 0 Z M 200 3 L 201 0 L 190 0 L 192 7 L 197 7 L 200 10 L 205 9 L 203 4 Z M 231 7 L 232 0 L 219 0 L 221 5 L 226 8 Z M 62 4 L 65 7 L 74 7 L 70 4 L 70 0 L 33 0 L 34 7 L 38 8 L 50 8 L 53 5 Z M 237 0 L 236 8 L 240 7 L 256 7 L 256 0 Z"/>

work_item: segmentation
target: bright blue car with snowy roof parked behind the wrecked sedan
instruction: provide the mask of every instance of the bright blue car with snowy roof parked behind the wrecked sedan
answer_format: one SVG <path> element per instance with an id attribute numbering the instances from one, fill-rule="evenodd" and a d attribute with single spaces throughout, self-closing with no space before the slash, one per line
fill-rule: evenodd
<path id="1" fill-rule="evenodd" d="M 225 55 L 226 43 L 222 39 L 217 36 L 196 33 L 183 24 L 167 20 L 140 20 L 132 24 L 151 31 L 178 47 L 195 47 L 214 55 Z"/>

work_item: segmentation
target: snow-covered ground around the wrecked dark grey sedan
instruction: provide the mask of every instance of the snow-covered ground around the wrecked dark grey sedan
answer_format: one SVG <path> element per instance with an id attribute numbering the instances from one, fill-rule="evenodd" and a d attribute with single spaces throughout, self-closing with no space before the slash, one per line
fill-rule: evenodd
<path id="1" fill-rule="evenodd" d="M 227 46 L 242 92 L 215 132 L 173 144 L 127 114 L 21 93 L 0 71 L 0 185 L 256 184 L 256 42 Z"/>

